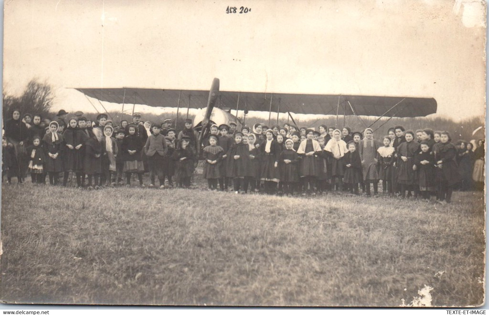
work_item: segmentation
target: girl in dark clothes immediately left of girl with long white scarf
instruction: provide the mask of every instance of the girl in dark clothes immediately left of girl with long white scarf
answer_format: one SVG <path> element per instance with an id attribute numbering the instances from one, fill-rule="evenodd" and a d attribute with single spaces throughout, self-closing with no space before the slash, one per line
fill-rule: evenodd
<path id="1" fill-rule="evenodd" d="M 99 176 L 102 173 L 102 155 L 100 141 L 102 141 L 102 130 L 94 128 L 92 137 L 85 142 L 85 158 L 83 171 L 89 177 L 88 189 L 100 189 Z M 94 180 L 92 182 L 92 180 Z"/>

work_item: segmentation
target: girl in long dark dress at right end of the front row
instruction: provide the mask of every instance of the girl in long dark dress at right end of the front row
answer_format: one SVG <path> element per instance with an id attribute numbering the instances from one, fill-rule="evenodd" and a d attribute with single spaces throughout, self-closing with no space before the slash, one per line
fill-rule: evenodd
<path id="1" fill-rule="evenodd" d="M 441 132 L 435 161 L 437 165 L 438 202 L 442 204 L 451 202 L 453 186 L 461 180 L 455 161 L 456 156 L 457 150 L 451 143 L 450 134 L 447 131 Z"/>

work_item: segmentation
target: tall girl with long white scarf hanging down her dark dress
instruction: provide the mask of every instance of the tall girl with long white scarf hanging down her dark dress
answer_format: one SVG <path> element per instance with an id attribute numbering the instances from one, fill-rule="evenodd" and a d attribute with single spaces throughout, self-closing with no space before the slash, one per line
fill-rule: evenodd
<path id="1" fill-rule="evenodd" d="M 261 157 L 263 158 L 260 176 L 265 181 L 265 192 L 272 195 L 280 178 L 278 169 L 280 144 L 273 139 L 273 131 L 270 129 L 266 131 L 265 135 L 267 139 L 260 147 Z"/>

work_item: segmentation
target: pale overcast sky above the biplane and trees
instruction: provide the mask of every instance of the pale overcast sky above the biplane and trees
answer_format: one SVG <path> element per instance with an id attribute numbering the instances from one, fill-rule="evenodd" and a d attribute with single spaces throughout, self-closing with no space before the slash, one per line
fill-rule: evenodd
<path id="1" fill-rule="evenodd" d="M 424 96 L 443 116 L 483 115 L 481 3 L 8 1 L 4 87 L 46 79 L 56 110 L 88 112 L 67 88 L 206 90 L 218 77 L 221 90 Z"/>

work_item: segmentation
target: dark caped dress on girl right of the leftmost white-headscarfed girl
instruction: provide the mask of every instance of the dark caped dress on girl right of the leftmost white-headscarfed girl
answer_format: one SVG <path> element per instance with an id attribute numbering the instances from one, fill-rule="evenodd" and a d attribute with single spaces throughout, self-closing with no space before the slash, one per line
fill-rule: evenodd
<path id="1" fill-rule="evenodd" d="M 63 155 L 65 172 L 81 172 L 83 170 L 83 158 L 85 158 L 82 155 L 84 152 L 81 151 L 82 148 L 77 150 L 75 147 L 80 144 L 83 147 L 88 140 L 87 135 L 78 127 L 68 127 L 63 133 L 63 137 L 65 138 L 65 152 Z M 73 149 L 68 148 L 67 144 L 72 145 Z"/>

